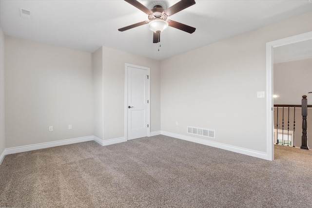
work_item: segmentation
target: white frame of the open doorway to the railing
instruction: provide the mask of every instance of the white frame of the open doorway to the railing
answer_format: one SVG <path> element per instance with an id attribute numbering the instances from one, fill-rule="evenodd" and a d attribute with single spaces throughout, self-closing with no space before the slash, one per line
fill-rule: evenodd
<path id="1" fill-rule="evenodd" d="M 278 46 L 312 39 L 312 32 L 274 40 L 267 43 L 267 159 L 274 160 L 273 135 L 273 49 Z"/>

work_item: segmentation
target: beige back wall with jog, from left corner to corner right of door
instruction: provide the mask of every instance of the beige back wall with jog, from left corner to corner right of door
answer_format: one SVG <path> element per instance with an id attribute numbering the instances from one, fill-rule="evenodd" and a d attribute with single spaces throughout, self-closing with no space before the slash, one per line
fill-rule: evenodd
<path id="1" fill-rule="evenodd" d="M 159 61 L 105 47 L 89 54 L 13 37 L 6 45 L 6 148 L 89 135 L 124 137 L 125 63 L 151 68 L 151 132 L 160 131 Z"/>

